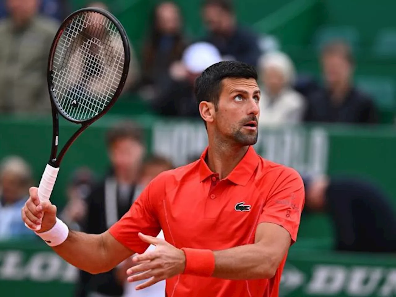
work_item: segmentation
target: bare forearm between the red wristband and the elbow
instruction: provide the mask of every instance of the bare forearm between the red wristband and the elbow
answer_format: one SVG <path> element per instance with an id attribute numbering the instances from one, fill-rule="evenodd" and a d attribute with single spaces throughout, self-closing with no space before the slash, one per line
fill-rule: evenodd
<path id="1" fill-rule="evenodd" d="M 259 244 L 248 244 L 215 251 L 213 277 L 228 280 L 272 278 L 276 271 L 274 257 Z"/>

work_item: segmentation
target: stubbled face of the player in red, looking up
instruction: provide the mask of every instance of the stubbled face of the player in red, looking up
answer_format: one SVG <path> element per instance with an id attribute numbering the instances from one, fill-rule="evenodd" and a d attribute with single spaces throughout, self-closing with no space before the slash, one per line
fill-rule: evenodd
<path id="1" fill-rule="evenodd" d="M 260 89 L 253 78 L 225 78 L 215 112 L 215 131 L 239 145 L 257 142 Z"/>

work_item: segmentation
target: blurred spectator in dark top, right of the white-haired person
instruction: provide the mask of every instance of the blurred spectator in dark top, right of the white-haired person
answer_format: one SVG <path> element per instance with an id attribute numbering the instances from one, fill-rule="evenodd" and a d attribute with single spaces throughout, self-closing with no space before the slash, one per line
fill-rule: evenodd
<path id="1" fill-rule="evenodd" d="M 322 50 L 325 87 L 308 96 L 307 122 L 376 123 L 373 100 L 352 82 L 354 59 L 350 47 L 339 41 Z"/>

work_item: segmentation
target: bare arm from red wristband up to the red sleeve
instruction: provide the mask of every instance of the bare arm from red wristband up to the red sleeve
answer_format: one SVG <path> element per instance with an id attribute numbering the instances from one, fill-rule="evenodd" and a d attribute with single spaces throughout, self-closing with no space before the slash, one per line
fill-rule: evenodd
<path id="1" fill-rule="evenodd" d="M 227 280 L 272 278 L 289 249 L 291 238 L 273 223 L 257 226 L 255 243 L 215 251 L 213 277 Z"/>

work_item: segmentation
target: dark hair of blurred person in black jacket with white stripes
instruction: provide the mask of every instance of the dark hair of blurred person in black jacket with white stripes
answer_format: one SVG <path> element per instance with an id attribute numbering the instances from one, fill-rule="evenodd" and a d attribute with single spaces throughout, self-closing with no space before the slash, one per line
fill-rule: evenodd
<path id="1" fill-rule="evenodd" d="M 132 139 L 144 144 L 143 129 L 134 122 L 124 121 L 110 128 L 106 133 L 106 145 L 111 147 L 116 141 L 122 139 Z"/>

